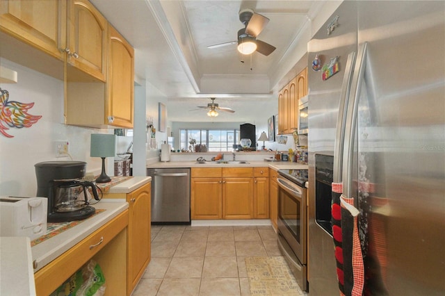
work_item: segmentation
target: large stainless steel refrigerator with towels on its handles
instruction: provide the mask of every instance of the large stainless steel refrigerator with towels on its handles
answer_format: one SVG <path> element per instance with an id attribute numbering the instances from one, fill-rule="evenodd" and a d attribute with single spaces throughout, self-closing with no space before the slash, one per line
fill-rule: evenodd
<path id="1" fill-rule="evenodd" d="M 308 44 L 309 295 L 339 295 L 346 282 L 338 184 L 356 211 L 355 293 L 445 293 L 444 11 L 444 1 L 344 1 Z"/>

